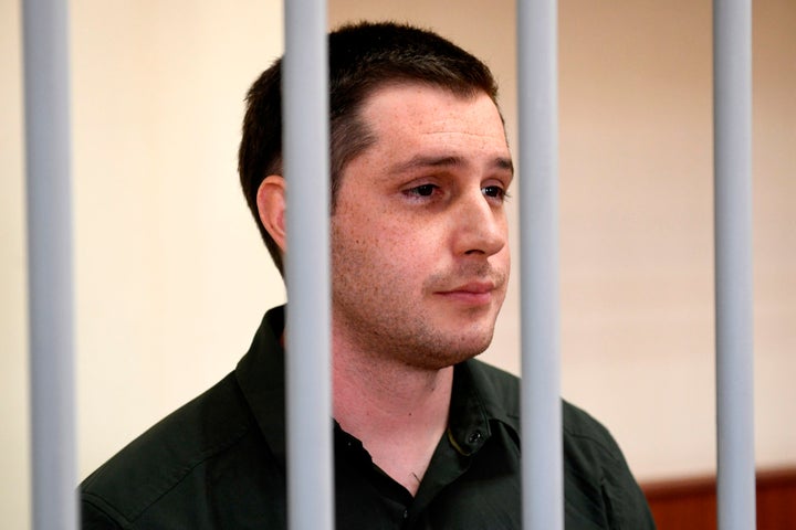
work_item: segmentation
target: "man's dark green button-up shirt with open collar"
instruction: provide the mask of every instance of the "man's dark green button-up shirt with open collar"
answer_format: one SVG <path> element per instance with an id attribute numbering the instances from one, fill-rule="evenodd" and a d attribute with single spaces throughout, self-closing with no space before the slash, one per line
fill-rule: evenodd
<path id="1" fill-rule="evenodd" d="M 233 373 L 85 479 L 84 529 L 286 528 L 283 326 L 269 311 Z M 608 432 L 563 407 L 566 528 L 654 528 Z M 336 528 L 521 528 L 519 380 L 457 365 L 449 417 L 415 497 L 335 424 Z"/>

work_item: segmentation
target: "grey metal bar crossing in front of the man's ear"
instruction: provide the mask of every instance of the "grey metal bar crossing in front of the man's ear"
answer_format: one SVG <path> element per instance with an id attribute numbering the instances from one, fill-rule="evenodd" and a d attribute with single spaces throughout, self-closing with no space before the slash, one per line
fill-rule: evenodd
<path id="1" fill-rule="evenodd" d="M 289 526 L 326 530 L 334 528 L 326 3 L 284 8 Z"/>

